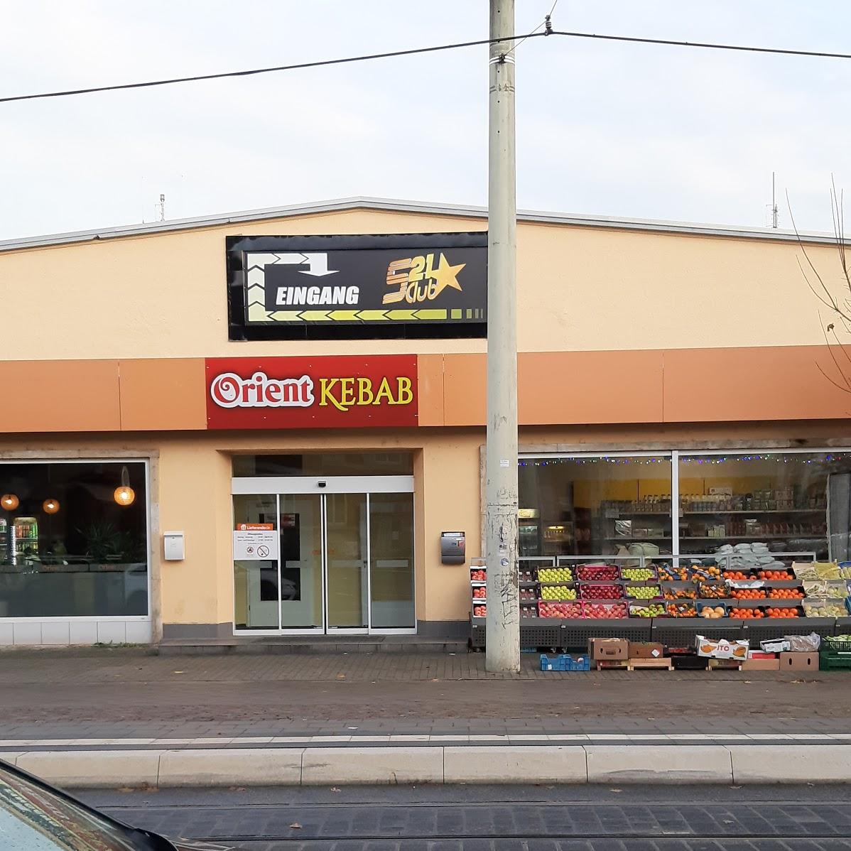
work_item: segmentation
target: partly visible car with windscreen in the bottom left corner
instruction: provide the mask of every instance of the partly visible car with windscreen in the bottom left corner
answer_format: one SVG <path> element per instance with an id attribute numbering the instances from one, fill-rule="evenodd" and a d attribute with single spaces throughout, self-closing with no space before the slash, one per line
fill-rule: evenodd
<path id="1" fill-rule="evenodd" d="M 0 760 L 0 848 L 14 851 L 200 851 L 224 846 L 142 831 Z"/>

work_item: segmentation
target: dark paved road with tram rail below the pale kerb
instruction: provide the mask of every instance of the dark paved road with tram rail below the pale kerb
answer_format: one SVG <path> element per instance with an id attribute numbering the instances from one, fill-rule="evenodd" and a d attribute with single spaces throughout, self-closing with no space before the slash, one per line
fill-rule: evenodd
<path id="1" fill-rule="evenodd" d="M 239 851 L 839 851 L 848 787 L 393 786 L 85 791 Z"/>

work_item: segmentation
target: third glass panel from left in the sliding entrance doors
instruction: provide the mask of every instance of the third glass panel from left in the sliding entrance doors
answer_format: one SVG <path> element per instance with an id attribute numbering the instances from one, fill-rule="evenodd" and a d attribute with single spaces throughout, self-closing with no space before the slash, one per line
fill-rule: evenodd
<path id="1" fill-rule="evenodd" d="M 328 628 L 368 623 L 366 494 L 325 494 Z"/>

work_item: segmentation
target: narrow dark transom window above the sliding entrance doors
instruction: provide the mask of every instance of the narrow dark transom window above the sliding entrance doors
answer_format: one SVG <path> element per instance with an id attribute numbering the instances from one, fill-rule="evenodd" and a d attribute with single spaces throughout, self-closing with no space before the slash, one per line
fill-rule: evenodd
<path id="1" fill-rule="evenodd" d="M 233 475 L 413 476 L 407 452 L 316 452 L 295 455 L 234 455 Z"/>

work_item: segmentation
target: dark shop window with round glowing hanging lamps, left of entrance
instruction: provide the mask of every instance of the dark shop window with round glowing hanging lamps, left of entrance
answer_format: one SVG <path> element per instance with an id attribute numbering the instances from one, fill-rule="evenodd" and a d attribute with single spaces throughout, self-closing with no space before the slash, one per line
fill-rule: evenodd
<path id="1" fill-rule="evenodd" d="M 148 614 L 144 462 L 0 463 L 0 617 Z"/>

